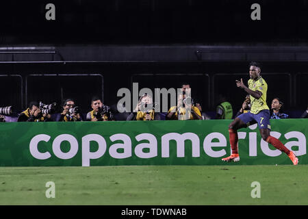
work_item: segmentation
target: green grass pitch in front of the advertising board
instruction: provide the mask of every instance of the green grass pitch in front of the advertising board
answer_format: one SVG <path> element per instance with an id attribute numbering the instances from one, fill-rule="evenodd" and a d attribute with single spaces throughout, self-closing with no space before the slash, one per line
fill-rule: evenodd
<path id="1" fill-rule="evenodd" d="M 1 167 L 0 205 L 308 205 L 307 181 L 308 165 Z"/>

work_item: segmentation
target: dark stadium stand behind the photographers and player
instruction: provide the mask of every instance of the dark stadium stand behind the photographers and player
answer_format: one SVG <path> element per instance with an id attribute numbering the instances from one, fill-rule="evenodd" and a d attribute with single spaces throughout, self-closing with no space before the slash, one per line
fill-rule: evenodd
<path id="1" fill-rule="evenodd" d="M 45 5 L 55 4 L 55 21 Z M 261 5 L 252 21 L 251 5 Z M 0 106 L 23 110 L 31 100 L 90 98 L 117 103 L 119 88 L 178 88 L 191 83 L 203 110 L 218 95 L 241 107 L 248 63 L 261 62 L 268 104 L 307 109 L 308 1 L 5 1 L 0 5 Z"/>

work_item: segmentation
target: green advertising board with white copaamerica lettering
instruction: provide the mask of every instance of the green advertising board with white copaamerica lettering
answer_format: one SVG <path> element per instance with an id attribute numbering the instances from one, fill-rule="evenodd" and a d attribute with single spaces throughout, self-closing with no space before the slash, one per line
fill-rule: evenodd
<path id="1" fill-rule="evenodd" d="M 231 120 L 0 123 L 0 166 L 222 165 Z M 279 138 L 308 164 L 308 119 L 271 120 Z M 292 164 L 261 140 L 257 125 L 238 130 L 240 162 Z"/>

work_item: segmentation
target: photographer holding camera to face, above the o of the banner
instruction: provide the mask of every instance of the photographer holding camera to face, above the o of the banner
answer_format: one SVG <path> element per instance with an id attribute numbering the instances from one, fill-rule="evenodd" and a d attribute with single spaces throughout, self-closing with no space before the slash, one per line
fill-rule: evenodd
<path id="1" fill-rule="evenodd" d="M 75 106 L 75 101 L 73 99 L 66 99 L 66 101 L 64 101 L 63 111 L 59 116 L 57 116 L 56 121 L 60 122 L 82 121 L 79 107 Z"/>

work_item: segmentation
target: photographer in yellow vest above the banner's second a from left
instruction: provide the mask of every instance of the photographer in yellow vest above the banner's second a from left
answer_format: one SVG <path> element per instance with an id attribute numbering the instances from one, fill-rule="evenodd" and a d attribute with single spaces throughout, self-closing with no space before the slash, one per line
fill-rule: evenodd
<path id="1" fill-rule="evenodd" d="M 159 113 L 155 113 L 154 108 L 152 97 L 148 94 L 143 94 L 127 120 L 160 120 Z"/>

